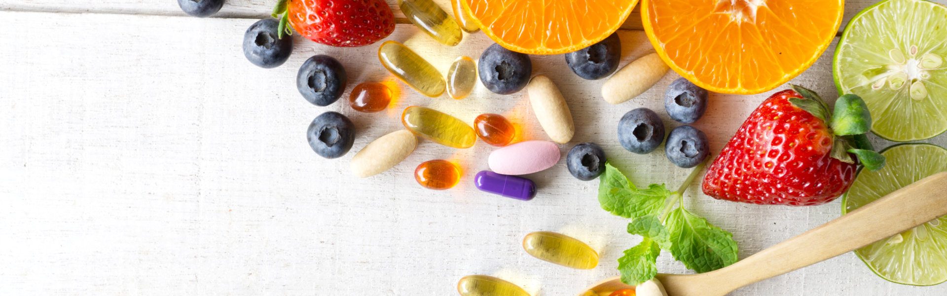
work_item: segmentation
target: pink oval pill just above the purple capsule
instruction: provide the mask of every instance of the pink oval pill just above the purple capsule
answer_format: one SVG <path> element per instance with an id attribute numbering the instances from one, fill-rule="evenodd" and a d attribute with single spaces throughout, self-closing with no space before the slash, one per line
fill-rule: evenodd
<path id="1" fill-rule="evenodd" d="M 559 146 L 545 140 L 527 140 L 494 150 L 487 163 L 502 175 L 527 175 L 551 168 L 559 162 Z"/>

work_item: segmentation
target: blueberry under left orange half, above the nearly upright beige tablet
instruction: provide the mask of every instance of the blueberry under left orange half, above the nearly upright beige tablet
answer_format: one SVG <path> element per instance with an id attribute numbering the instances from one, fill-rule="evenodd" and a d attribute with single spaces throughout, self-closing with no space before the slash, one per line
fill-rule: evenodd
<path id="1" fill-rule="evenodd" d="M 480 54 L 477 63 L 480 82 L 487 89 L 501 95 L 520 91 L 529 83 L 532 62 L 525 53 L 519 53 L 493 44 Z"/>

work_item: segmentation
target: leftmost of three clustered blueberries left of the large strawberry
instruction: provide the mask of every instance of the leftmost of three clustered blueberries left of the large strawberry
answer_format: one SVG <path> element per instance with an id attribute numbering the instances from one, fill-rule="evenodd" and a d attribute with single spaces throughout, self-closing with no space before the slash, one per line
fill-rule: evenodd
<path id="1" fill-rule="evenodd" d="M 648 108 L 637 108 L 618 120 L 618 142 L 625 150 L 648 154 L 664 140 L 664 122 Z"/>

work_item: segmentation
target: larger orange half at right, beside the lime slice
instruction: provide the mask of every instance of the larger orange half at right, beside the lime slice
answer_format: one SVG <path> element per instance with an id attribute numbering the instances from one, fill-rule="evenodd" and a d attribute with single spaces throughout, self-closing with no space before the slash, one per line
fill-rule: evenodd
<path id="1" fill-rule="evenodd" d="M 844 0 L 643 0 L 641 19 L 670 68 L 707 90 L 758 94 L 829 47 Z"/>

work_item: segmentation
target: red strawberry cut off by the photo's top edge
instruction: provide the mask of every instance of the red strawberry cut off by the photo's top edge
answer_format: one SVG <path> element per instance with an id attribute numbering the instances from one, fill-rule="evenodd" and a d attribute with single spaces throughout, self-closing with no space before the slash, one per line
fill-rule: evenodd
<path id="1" fill-rule="evenodd" d="M 280 33 L 292 33 L 327 46 L 367 46 L 395 30 L 395 15 L 384 0 L 279 0 Z"/>

